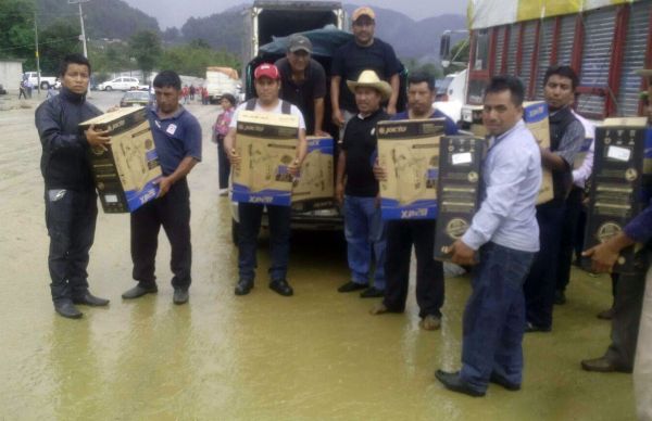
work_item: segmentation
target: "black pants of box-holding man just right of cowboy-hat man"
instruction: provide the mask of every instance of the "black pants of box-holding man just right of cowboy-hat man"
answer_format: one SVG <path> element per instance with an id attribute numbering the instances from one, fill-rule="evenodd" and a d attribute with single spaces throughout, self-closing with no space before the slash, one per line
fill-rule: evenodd
<path id="1" fill-rule="evenodd" d="M 443 265 L 435 260 L 435 220 L 390 220 L 387 222 L 385 299 L 390 311 L 403 311 L 408 297 L 412 244 L 416 253 L 416 303 L 419 317 L 441 317 Z"/>

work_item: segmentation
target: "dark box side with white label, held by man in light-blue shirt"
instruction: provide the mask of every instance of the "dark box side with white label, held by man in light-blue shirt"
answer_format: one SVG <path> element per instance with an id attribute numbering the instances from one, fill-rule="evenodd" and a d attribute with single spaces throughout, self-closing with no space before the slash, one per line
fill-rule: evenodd
<path id="1" fill-rule="evenodd" d="M 466 232 L 480 200 L 480 175 L 487 152 L 485 139 L 468 136 L 441 138 L 437 197 L 439 216 L 435 231 L 435 258 L 450 258 L 444 247 Z"/>

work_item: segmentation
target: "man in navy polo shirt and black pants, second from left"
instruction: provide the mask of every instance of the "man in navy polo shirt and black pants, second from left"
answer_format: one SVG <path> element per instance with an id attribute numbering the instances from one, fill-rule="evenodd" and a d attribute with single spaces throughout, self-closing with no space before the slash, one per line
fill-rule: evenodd
<path id="1" fill-rule="evenodd" d="M 173 303 L 188 302 L 192 248 L 190 243 L 190 191 L 186 176 L 201 161 L 201 127 L 179 104 L 181 80 L 172 71 L 154 78 L 156 105 L 148 111 L 154 145 L 163 177 L 159 196 L 131 213 L 131 260 L 138 284 L 126 291 L 124 299 L 134 299 L 159 291 L 155 258 L 161 226 L 170 240 L 174 273 Z"/>

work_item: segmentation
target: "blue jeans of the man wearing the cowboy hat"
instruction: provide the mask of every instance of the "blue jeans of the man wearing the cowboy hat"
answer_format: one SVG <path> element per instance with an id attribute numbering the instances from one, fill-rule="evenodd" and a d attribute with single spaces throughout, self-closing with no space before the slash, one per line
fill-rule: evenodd
<path id="1" fill-rule="evenodd" d="M 344 196 L 344 237 L 351 280 L 367 284 L 375 257 L 374 286 L 385 290 L 385 222 L 376 197 Z"/>

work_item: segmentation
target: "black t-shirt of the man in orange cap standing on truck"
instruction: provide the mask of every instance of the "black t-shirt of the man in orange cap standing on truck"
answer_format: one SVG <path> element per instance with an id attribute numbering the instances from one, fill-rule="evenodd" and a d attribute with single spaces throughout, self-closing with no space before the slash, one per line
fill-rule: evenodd
<path id="1" fill-rule="evenodd" d="M 352 40 L 337 49 L 333 55 L 330 74 L 341 77 L 340 109 L 356 112 L 355 98 L 347 87 L 347 80 L 358 80 L 362 71 L 374 71 L 379 78 L 389 81 L 401 71 L 401 64 L 393 48 L 378 38 L 374 38 L 369 47 L 360 47 Z"/>

